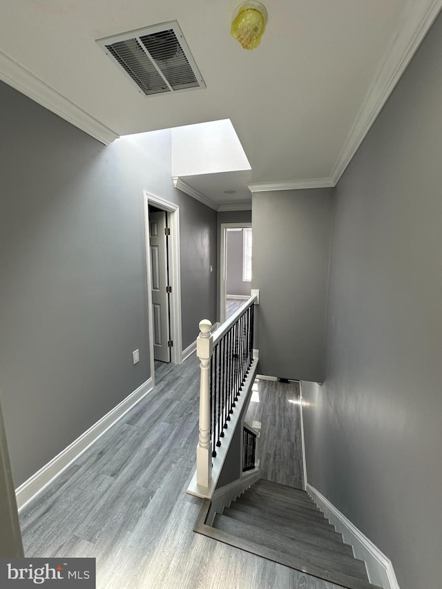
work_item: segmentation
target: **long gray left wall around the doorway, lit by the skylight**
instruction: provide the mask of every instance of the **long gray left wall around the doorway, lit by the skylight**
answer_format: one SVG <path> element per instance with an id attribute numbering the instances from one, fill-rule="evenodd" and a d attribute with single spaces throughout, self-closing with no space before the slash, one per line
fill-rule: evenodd
<path id="1" fill-rule="evenodd" d="M 150 376 L 143 189 L 182 205 L 192 233 L 186 320 L 203 299 L 215 314 L 215 278 L 186 277 L 206 269 L 198 239 L 215 264 L 216 215 L 173 187 L 169 131 L 103 146 L 4 84 L 0 101 L 0 387 L 17 487 Z"/>

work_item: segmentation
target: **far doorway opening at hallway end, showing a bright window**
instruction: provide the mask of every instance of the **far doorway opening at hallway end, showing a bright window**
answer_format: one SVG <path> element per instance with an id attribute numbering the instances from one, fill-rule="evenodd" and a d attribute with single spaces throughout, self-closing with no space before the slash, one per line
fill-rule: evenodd
<path id="1" fill-rule="evenodd" d="M 251 223 L 221 224 L 220 321 L 231 316 L 251 288 Z"/>

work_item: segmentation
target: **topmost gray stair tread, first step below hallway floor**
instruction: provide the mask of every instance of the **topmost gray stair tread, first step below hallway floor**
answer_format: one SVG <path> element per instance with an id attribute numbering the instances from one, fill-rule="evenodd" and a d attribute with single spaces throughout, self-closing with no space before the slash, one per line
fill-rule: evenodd
<path id="1" fill-rule="evenodd" d="M 363 561 L 349 557 L 347 554 L 341 554 L 336 550 L 333 552 L 325 551 L 322 548 L 317 548 L 300 540 L 282 537 L 278 533 L 278 530 L 274 534 L 269 533 L 267 530 L 262 532 L 256 525 L 244 523 L 220 514 L 215 516 L 213 528 L 229 532 L 237 537 L 253 541 L 254 543 L 285 554 L 294 554 L 296 557 L 316 566 L 321 566 L 329 570 L 338 570 L 349 576 L 363 579 L 364 581 L 368 580 Z"/>

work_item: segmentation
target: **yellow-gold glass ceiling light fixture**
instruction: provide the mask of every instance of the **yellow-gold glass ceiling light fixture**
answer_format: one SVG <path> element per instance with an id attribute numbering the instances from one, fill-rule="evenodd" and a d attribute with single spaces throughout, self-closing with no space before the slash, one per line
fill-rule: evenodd
<path id="1" fill-rule="evenodd" d="M 267 23 L 267 10 L 260 2 L 244 2 L 233 12 L 231 36 L 244 49 L 255 49 Z"/>

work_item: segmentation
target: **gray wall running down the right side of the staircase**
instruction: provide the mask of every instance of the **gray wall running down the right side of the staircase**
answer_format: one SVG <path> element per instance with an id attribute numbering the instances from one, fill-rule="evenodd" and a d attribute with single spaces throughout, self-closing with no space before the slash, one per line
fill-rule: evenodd
<path id="1" fill-rule="evenodd" d="M 323 387 L 303 385 L 309 483 L 441 586 L 442 18 L 338 183 Z"/>

